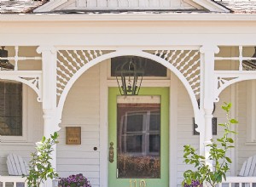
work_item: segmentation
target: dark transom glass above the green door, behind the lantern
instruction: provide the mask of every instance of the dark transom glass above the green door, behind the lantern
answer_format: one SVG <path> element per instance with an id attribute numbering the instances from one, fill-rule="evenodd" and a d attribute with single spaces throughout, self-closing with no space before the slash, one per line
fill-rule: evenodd
<path id="1" fill-rule="evenodd" d="M 160 63 L 155 62 L 152 59 L 145 59 L 143 57 L 133 56 L 135 64 L 138 69 L 142 69 L 144 72 L 144 77 L 166 77 L 167 69 L 164 65 L 160 65 Z M 131 56 L 120 56 L 111 59 L 111 77 L 120 76 L 115 73 L 116 69 L 123 65 L 125 62 L 130 61 Z M 124 67 L 125 68 L 125 67 Z M 128 66 L 126 67 L 128 69 Z"/>

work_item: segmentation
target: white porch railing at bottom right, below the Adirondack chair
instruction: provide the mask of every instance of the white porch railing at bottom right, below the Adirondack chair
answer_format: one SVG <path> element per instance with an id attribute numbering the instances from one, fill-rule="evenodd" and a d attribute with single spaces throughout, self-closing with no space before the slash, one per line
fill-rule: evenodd
<path id="1" fill-rule="evenodd" d="M 226 181 L 222 184 L 219 184 L 219 187 L 253 187 L 256 184 L 256 177 L 227 177 Z"/>

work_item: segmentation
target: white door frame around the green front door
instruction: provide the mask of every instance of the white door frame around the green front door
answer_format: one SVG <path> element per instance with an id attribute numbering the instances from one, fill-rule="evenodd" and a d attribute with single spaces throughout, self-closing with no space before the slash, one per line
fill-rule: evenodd
<path id="1" fill-rule="evenodd" d="M 108 59 L 109 60 L 109 59 Z M 100 64 L 100 186 L 108 186 L 108 63 Z M 170 71 L 170 70 L 169 70 Z M 171 72 L 171 81 L 163 84 L 151 83 L 151 87 L 169 87 L 169 186 L 177 185 L 177 84 L 178 78 Z M 149 85 L 148 85 L 149 86 Z M 171 169 L 172 168 L 172 169 Z"/>

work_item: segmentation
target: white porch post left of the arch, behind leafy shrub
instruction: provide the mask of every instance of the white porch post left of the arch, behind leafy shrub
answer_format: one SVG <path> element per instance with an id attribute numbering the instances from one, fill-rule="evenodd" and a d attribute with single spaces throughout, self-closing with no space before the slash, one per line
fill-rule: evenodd
<path id="1" fill-rule="evenodd" d="M 56 119 L 56 49 L 53 46 L 40 46 L 37 52 L 42 54 L 44 136 L 48 139 L 50 134 L 60 130 Z M 56 145 L 51 163 L 56 170 Z M 51 180 L 47 180 L 44 186 L 51 187 Z"/>

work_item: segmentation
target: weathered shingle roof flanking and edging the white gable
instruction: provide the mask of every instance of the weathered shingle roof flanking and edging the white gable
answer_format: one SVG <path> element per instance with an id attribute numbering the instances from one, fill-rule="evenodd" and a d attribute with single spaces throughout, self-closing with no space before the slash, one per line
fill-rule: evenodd
<path id="1" fill-rule="evenodd" d="M 212 0 L 213 1 L 213 0 Z M 44 3 L 47 3 L 48 0 L 42 0 L 42 1 L 32 1 L 32 0 L 15 0 L 15 1 L 10 1 L 10 0 L 2 0 L 1 1 L 1 7 L 0 7 L 0 12 L 1 14 L 20 14 L 20 13 L 32 13 L 34 8 L 38 8 Z M 224 8 L 230 9 L 230 13 L 235 13 L 235 14 L 256 14 L 256 0 L 216 0 L 213 1 L 215 3 L 218 3 Z M 74 10 L 74 11 L 61 11 L 58 12 L 58 14 L 117 14 L 117 13 L 127 13 L 127 14 L 140 14 L 142 13 L 137 12 L 137 11 L 79 11 L 79 10 Z M 145 12 L 145 11 L 144 11 Z M 144 13 L 143 12 L 143 13 Z M 161 14 L 161 13 L 166 13 L 168 11 L 147 11 L 147 14 Z M 201 10 L 171 10 L 169 13 L 201 13 L 201 12 L 207 12 L 207 11 L 201 11 Z M 56 14 L 56 12 L 55 12 Z"/>

